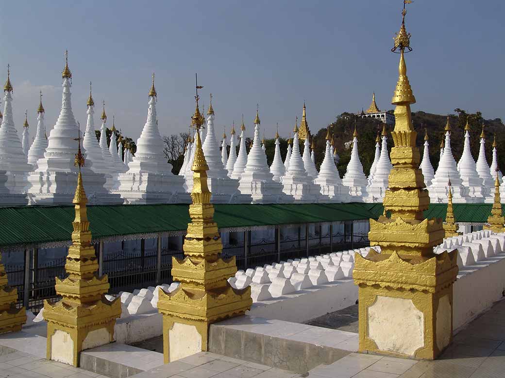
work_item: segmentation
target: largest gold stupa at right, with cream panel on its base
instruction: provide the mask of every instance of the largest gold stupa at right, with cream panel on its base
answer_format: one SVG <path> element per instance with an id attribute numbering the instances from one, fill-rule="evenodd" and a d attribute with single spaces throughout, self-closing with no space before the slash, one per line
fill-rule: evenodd
<path id="1" fill-rule="evenodd" d="M 429 196 L 419 167 L 410 105 L 416 102 L 404 53 L 410 51 L 405 9 L 393 51 L 399 50 L 393 168 L 383 205 L 389 218 L 370 219 L 369 239 L 381 252 L 356 255 L 359 286 L 359 351 L 417 359 L 436 358 L 452 340 L 452 283 L 457 251 L 433 254 L 442 242 L 441 219 L 424 219 Z"/>

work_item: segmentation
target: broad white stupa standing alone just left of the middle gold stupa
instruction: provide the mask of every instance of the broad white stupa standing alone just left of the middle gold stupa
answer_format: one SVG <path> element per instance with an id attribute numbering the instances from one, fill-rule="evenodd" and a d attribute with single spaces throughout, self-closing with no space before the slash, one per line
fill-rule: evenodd
<path id="1" fill-rule="evenodd" d="M 156 116 L 155 76 L 149 90 L 147 120 L 137 139 L 137 151 L 128 171 L 119 174 L 118 193 L 129 204 L 189 203 L 184 179 L 172 173 L 172 165 L 163 152 L 163 139 Z"/>

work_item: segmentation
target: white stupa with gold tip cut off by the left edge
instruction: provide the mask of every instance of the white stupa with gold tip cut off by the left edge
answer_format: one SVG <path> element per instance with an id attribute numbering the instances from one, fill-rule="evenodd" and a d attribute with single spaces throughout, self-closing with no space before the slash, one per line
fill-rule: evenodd
<path id="1" fill-rule="evenodd" d="M 8 68 L 7 82 L 4 86 L 4 117 L 0 126 L 0 170 L 6 171 L 7 191 L 11 194 L 24 194 L 28 186 L 27 175 L 33 168 L 28 164 L 27 154 L 23 151 L 21 140 L 14 126 L 12 92 L 13 87 Z"/>

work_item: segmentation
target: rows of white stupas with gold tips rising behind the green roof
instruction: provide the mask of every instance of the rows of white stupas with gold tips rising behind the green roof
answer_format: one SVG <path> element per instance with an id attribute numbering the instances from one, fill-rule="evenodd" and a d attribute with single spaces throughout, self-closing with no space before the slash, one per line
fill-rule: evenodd
<path id="1" fill-rule="evenodd" d="M 14 126 L 12 114 L 13 87 L 8 73 L 4 87 L 4 115 L 0 125 L 0 205 L 53 205 L 71 204 L 75 192 L 77 169 L 74 158 L 76 139 L 80 131 L 72 112 L 71 78 L 68 61 L 62 72 L 63 98 L 58 120 L 46 138 L 44 108 L 40 101 L 35 138 L 28 148 L 28 123 L 25 118 L 22 139 Z M 122 144 L 107 143 L 107 116 L 102 112 L 100 140 L 95 137 L 94 101 L 87 101 L 87 123 L 82 138 L 85 166 L 82 167 L 86 193 L 92 204 L 156 204 L 190 203 L 189 193 L 193 186 L 191 166 L 194 145 L 189 142 L 184 163 L 178 175 L 172 173 L 172 165 L 164 155 L 163 139 L 158 129 L 156 114 L 157 93 L 153 83 L 149 91 L 147 120 L 137 140 L 135 156 Z M 1 113 L 0 113 L 1 115 Z M 196 104 L 193 117 L 203 116 Z M 275 136 L 275 156 L 272 165 L 267 164 L 264 141 L 260 141 L 260 118 L 257 111 L 254 120 L 254 141 L 247 154 L 245 126 L 242 120 L 239 141 L 231 131 L 230 154 L 227 153 L 226 135 L 218 142 L 214 128 L 215 112 L 212 97 L 207 111 L 206 135 L 203 150 L 209 165 L 209 188 L 214 203 L 290 203 L 290 202 L 382 202 L 388 187 L 392 169 L 387 151 L 387 135 L 384 129 L 382 141 L 376 140 L 375 158 L 367 177 L 358 155 L 358 134 L 354 133 L 351 158 L 346 173 L 340 178 L 335 165 L 336 153 L 326 137 L 324 160 L 318 172 L 314 164 L 314 150 L 309 138 L 305 138 L 304 151 L 298 147 L 298 127 L 293 130 L 293 141 L 288 145 L 287 155 L 282 161 L 279 135 Z M 493 162 L 488 166 L 484 154 L 484 135 L 481 135 L 480 153 L 477 163 L 470 153 L 468 127 L 465 149 L 456 164 L 450 148 L 450 127 L 447 121 L 445 147 L 436 173 L 433 172 L 425 137 L 424 156 L 420 168 L 425 177 L 432 202 L 445 202 L 447 181 L 450 178 L 454 202 L 492 202 L 492 172 L 496 170 L 496 148 L 493 144 Z M 115 126 L 111 128 L 115 131 Z M 309 130 L 304 104 L 300 130 Z M 115 138 L 112 138 L 115 140 Z M 236 145 L 239 152 L 236 155 Z M 505 185 L 502 194 L 505 199 Z"/>

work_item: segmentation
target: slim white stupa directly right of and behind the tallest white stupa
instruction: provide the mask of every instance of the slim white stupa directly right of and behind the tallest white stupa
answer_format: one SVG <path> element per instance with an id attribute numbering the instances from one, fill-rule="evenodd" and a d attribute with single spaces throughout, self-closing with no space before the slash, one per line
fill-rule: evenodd
<path id="1" fill-rule="evenodd" d="M 89 98 L 86 103 L 87 105 L 87 122 L 86 122 L 86 131 L 84 132 L 84 139 L 82 141 L 82 145 L 84 150 L 86 151 L 86 163 L 92 163 L 92 170 L 96 173 L 103 173 L 106 177 L 105 187 L 108 190 L 114 188 L 112 182 L 112 175 L 110 174 L 110 170 L 108 165 L 104 160 L 104 155 L 102 153 L 102 149 L 98 144 L 98 140 L 96 139 L 96 133 L 94 128 L 94 101 L 91 96 L 91 82 L 89 83 Z"/>

